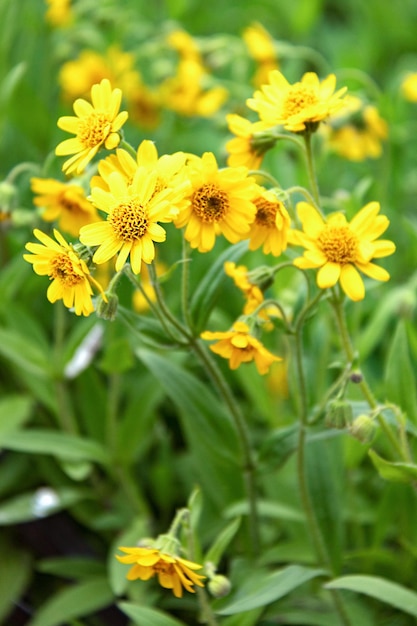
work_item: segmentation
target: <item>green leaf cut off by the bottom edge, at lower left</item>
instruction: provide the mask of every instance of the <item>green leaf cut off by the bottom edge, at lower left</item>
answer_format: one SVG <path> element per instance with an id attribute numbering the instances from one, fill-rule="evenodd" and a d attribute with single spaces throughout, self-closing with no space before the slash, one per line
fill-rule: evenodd
<path id="1" fill-rule="evenodd" d="M 28 626 L 62 626 L 112 603 L 113 594 L 106 579 L 88 580 L 58 591 L 37 610 Z"/>

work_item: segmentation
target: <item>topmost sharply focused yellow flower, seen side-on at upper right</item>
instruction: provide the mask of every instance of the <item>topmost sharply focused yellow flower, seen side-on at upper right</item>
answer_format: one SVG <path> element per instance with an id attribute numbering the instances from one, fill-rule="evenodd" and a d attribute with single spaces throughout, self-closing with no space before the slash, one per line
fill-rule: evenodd
<path id="1" fill-rule="evenodd" d="M 335 92 L 336 77 L 330 74 L 320 82 L 317 74 L 307 72 L 291 85 L 281 72 L 274 70 L 269 82 L 249 98 L 247 105 L 257 111 L 264 128 L 282 125 L 294 133 L 315 130 L 319 122 L 344 106 L 346 87 Z"/>

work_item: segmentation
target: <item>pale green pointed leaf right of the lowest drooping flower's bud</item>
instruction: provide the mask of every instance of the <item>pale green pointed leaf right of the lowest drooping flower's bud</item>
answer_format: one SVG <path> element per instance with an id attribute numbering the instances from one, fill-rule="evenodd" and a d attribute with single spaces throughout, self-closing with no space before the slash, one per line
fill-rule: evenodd
<path id="1" fill-rule="evenodd" d="M 266 606 L 286 596 L 307 581 L 324 574 L 323 570 L 289 565 L 278 572 L 255 575 L 241 586 L 229 604 L 217 610 L 216 613 L 232 615 Z"/>

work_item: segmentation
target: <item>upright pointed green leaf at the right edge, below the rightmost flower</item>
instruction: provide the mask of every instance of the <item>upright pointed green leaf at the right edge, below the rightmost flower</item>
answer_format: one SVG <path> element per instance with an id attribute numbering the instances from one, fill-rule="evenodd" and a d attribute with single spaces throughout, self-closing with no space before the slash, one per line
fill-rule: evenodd
<path id="1" fill-rule="evenodd" d="M 408 418 L 417 424 L 416 377 L 404 319 L 398 322 L 387 357 L 385 392 L 390 402 L 401 407 Z"/>

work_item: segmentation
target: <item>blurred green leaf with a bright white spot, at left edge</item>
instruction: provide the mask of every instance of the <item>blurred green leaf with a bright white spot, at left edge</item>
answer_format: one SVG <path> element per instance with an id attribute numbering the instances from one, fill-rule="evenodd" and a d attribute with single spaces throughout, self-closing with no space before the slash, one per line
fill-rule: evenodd
<path id="1" fill-rule="evenodd" d="M 85 489 L 40 487 L 36 491 L 14 496 L 1 503 L 0 526 L 48 517 L 88 497 L 91 495 Z"/>

